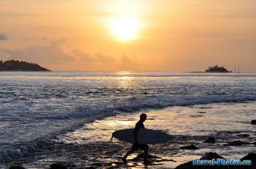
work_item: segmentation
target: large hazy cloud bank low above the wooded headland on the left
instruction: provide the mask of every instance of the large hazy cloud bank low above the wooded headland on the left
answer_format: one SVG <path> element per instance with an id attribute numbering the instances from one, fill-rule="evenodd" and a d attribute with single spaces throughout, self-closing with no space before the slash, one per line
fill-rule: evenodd
<path id="1" fill-rule="evenodd" d="M 30 46 L 26 49 L 0 49 L 4 54 L 8 54 L 12 59 L 22 59 L 28 62 L 51 64 L 54 62 L 74 61 L 76 58 L 70 54 L 65 54 L 61 46 L 66 39 L 53 41 L 49 46 Z"/>

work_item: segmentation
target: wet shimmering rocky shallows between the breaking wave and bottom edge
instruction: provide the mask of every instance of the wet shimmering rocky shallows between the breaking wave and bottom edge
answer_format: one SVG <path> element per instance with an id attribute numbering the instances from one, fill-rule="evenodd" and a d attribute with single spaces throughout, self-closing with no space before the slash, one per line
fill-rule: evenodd
<path id="1" fill-rule="evenodd" d="M 51 143 L 41 142 L 36 152 L 6 163 L 3 167 L 7 169 L 17 165 L 26 169 L 49 169 L 51 165 L 52 169 L 61 169 L 61 165 L 64 165 L 68 169 L 189 169 L 194 158 L 211 160 L 223 157 L 249 159 L 253 161 L 253 166 L 204 168 L 254 169 L 256 156 L 251 152 L 256 152 L 256 130 L 255 125 L 250 124 L 250 119 L 255 117 L 255 110 L 255 102 L 143 110 L 148 115 L 144 123 L 146 128 L 175 135 L 172 141 L 150 145 L 149 160 L 153 163 L 148 166 L 143 164 L 140 151 L 129 156 L 128 163 L 124 164 L 121 158 L 131 144 L 115 138 L 109 142 L 113 131 L 134 127 L 142 112 L 127 114 L 120 110 L 114 112 L 116 116 L 96 120 L 55 137 Z M 214 139 L 204 142 L 209 137 Z M 202 166 L 197 168 L 201 169 Z"/>

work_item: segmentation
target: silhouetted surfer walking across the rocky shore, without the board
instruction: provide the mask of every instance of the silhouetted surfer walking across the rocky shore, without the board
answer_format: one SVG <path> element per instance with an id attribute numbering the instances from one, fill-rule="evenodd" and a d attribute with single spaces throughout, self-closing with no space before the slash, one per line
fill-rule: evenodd
<path id="1" fill-rule="evenodd" d="M 151 161 L 147 160 L 147 157 L 148 157 L 148 145 L 147 144 L 139 144 L 138 140 L 137 140 L 137 133 L 139 132 L 139 130 L 140 129 L 145 129 L 143 122 L 146 119 L 147 119 L 147 115 L 145 113 L 142 113 L 140 115 L 140 120 L 136 123 L 135 128 L 134 128 L 135 143 L 132 144 L 131 149 L 128 152 L 126 152 L 126 154 L 122 158 L 122 161 L 124 161 L 124 163 L 127 163 L 126 158 L 128 157 L 128 155 L 130 155 L 134 151 L 137 151 L 138 149 L 144 150 L 144 163 L 152 163 Z"/>

